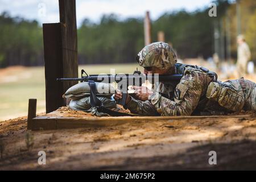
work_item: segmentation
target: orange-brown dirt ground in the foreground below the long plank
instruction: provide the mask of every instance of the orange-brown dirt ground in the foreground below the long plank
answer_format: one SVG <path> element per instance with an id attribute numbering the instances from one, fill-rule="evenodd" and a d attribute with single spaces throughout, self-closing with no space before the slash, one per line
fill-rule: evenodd
<path id="1" fill-rule="evenodd" d="M 256 114 L 237 114 L 46 131 L 27 131 L 20 117 L 0 123 L 0 170 L 256 169 Z M 39 151 L 46 152 L 46 165 L 38 164 Z M 209 164 L 209 151 L 217 152 L 216 165 Z"/>

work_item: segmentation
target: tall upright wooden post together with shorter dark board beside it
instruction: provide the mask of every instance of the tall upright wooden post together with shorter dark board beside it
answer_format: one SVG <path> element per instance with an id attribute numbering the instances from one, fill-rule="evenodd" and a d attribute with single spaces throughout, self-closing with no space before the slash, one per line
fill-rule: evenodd
<path id="1" fill-rule="evenodd" d="M 57 82 L 56 78 L 78 77 L 76 1 L 59 0 L 60 23 L 43 24 L 46 76 L 46 113 L 65 106 L 62 97 L 77 81 Z"/>

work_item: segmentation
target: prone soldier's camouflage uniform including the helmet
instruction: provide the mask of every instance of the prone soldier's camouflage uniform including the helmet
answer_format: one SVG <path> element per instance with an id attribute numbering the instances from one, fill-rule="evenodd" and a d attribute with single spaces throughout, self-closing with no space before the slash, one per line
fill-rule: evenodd
<path id="1" fill-rule="evenodd" d="M 222 97 L 224 99 L 219 102 L 210 100 L 206 94 L 208 85 L 214 81 L 214 78 L 200 67 L 175 64 L 176 55 L 166 43 L 152 43 L 144 47 L 139 52 L 137 60 L 143 67 L 153 65 L 163 69 L 169 68 L 170 72 L 184 76 L 177 85 L 156 83 L 154 86 L 158 88 L 158 92 L 151 94 L 147 101 L 135 100 L 131 97 L 131 101 L 125 107 L 132 113 L 141 115 L 229 113 L 238 108 L 236 104 L 240 105 L 240 110 L 256 110 L 256 84 L 254 82 L 243 78 L 226 82 L 218 81 L 217 84 L 228 88 L 230 92 L 226 92 Z M 171 69 L 173 67 L 175 69 Z M 241 100 L 232 97 L 238 94 L 242 97 Z M 234 105 L 233 100 L 236 100 Z"/>

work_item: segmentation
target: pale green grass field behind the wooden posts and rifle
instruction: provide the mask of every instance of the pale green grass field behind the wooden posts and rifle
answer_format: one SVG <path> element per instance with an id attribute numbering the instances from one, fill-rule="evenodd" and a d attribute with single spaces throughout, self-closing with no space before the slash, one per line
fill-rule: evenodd
<path id="1" fill-rule="evenodd" d="M 138 64 L 80 65 L 79 76 L 81 69 L 88 74 L 110 73 L 110 69 L 115 69 L 115 73 L 133 73 L 137 67 Z M 0 69 L 0 73 L 1 71 L 3 70 Z M 0 80 L 0 121 L 27 115 L 29 98 L 38 100 L 37 113 L 45 111 L 44 67 L 22 68 L 19 71 L 15 71 L 15 68 L 13 71 L 10 69 L 2 80 Z"/>

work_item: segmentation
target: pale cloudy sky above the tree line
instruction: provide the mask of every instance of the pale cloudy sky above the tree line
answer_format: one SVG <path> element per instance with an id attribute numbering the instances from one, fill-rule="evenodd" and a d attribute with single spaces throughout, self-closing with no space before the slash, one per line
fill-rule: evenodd
<path id="1" fill-rule="evenodd" d="M 150 11 L 152 20 L 165 12 L 185 9 L 194 11 L 208 7 L 212 0 L 76 0 L 77 26 L 88 18 L 98 23 L 104 14 L 117 14 L 120 19 L 143 17 Z M 42 23 L 59 22 L 58 0 L 0 0 L 0 13 L 36 19 Z"/>

